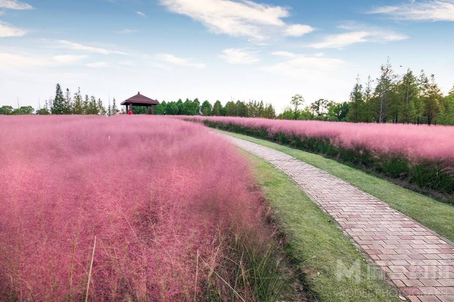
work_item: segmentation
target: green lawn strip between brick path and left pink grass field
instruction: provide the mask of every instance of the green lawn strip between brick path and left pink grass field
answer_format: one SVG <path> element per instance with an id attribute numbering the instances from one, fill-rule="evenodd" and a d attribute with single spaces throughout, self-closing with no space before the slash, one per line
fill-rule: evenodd
<path id="1" fill-rule="evenodd" d="M 246 152 L 245 152 L 246 153 Z M 287 252 L 317 300 L 322 301 L 398 301 L 395 291 L 382 279 L 368 280 L 370 266 L 361 252 L 286 174 L 249 153 L 258 183 L 262 186 L 280 230 L 286 234 Z M 338 263 L 359 271 L 351 277 L 337 278 Z M 356 280 L 360 276 L 360 280 Z"/>

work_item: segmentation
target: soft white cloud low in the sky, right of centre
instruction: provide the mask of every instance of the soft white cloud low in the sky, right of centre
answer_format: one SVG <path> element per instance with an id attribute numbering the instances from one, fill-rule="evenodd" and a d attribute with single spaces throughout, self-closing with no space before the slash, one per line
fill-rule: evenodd
<path id="1" fill-rule="evenodd" d="M 337 58 L 308 56 L 288 51 L 275 51 L 276 56 L 286 57 L 285 61 L 271 66 L 261 67 L 260 70 L 280 73 L 294 77 L 310 77 L 311 74 L 324 74 L 342 66 L 345 62 Z"/>

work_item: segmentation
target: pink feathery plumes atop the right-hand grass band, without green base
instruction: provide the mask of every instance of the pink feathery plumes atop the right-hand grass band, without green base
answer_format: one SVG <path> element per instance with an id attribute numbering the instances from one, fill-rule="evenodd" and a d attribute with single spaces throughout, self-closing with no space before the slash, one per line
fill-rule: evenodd
<path id="1" fill-rule="evenodd" d="M 329 138 L 347 149 L 366 147 L 374 153 L 404 155 L 411 161 L 442 161 L 454 166 L 454 127 L 404 124 L 364 124 L 316 120 L 280 120 L 247 117 L 186 116 L 243 127 L 263 128 L 270 134 Z"/>

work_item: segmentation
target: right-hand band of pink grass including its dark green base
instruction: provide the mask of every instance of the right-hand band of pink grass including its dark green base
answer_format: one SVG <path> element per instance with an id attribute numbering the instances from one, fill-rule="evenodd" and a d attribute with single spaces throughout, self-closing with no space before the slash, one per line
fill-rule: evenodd
<path id="1" fill-rule="evenodd" d="M 187 116 L 206 126 L 289 145 L 454 194 L 454 127 Z"/>

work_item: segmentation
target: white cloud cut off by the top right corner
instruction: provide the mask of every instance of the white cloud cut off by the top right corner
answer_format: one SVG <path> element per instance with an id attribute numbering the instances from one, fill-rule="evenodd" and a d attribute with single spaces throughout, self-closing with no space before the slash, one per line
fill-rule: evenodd
<path id="1" fill-rule="evenodd" d="M 454 1 L 413 0 L 398 6 L 378 7 L 368 13 L 390 15 L 400 20 L 454 21 Z"/>

